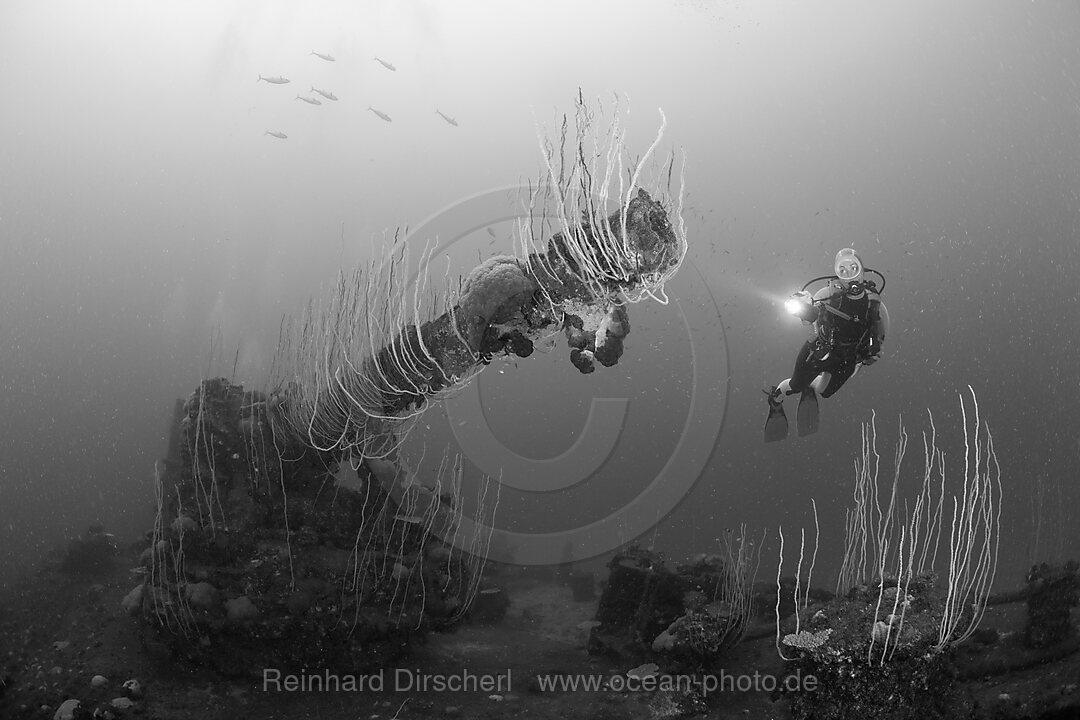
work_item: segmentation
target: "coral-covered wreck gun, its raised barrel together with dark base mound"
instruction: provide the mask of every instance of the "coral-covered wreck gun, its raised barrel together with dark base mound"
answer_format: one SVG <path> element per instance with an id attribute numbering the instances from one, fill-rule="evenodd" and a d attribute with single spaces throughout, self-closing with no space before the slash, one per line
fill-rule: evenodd
<path id="1" fill-rule="evenodd" d="M 564 119 L 542 144 L 546 177 L 525 199 L 516 256 L 440 296 L 406 282 L 416 243 L 400 237 L 287 326 L 272 390 L 208 379 L 184 403 L 144 582 L 125 599 L 148 644 L 229 675 L 357 673 L 465 615 L 497 487 L 468 490 L 449 456 L 418 477 L 399 452 L 409 421 L 495 356 L 526 357 L 553 334 L 579 371 L 615 365 L 627 305 L 664 301 L 686 254 L 674 163 L 667 186 L 642 187 L 656 142 L 623 167 L 618 120 L 595 122 L 579 97 L 576 137 Z M 420 260 L 430 266 L 430 249 Z"/>

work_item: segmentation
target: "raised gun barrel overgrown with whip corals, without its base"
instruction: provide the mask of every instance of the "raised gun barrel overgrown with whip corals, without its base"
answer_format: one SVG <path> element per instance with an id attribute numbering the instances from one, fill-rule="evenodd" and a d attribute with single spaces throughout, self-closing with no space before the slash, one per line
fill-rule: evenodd
<path id="1" fill-rule="evenodd" d="M 399 241 L 388 264 L 342 279 L 336 297 L 287 330 L 273 399 L 285 430 L 322 451 L 384 457 L 428 400 L 500 353 L 528 356 L 535 341 L 562 330 L 581 372 L 592 372 L 594 361 L 619 361 L 630 331 L 627 303 L 665 302 L 664 284 L 686 256 L 681 187 L 669 208 L 636 186 L 663 124 L 649 151 L 624 168 L 618 120 L 598 131 L 580 97 L 576 117 L 571 151 L 565 120 L 559 151 L 542 145 L 549 177 L 527 199 L 518 257 L 485 260 L 457 293 L 445 295 L 441 313 L 424 313 L 436 303 L 403 282 L 407 247 Z M 674 164 L 665 164 L 666 181 L 658 180 L 653 193 L 671 185 Z M 608 212 L 610 205 L 617 209 Z"/>

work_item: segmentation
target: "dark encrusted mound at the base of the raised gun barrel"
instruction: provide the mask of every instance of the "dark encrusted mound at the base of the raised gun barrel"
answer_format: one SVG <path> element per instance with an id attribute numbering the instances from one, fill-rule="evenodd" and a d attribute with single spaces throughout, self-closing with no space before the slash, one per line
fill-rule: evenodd
<path id="1" fill-rule="evenodd" d="M 149 646 L 227 676 L 362 671 L 464 615 L 483 556 L 438 539 L 461 512 L 454 487 L 388 488 L 367 463 L 289 441 L 266 396 L 224 379 L 200 385 L 181 425 L 124 599 Z"/>

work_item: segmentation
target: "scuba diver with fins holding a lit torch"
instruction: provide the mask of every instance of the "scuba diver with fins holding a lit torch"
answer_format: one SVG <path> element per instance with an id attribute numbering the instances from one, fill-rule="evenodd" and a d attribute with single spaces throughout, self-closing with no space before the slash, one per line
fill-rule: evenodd
<path id="1" fill-rule="evenodd" d="M 833 270 L 835 275 L 814 277 L 784 303 L 787 312 L 813 324 L 814 337 L 806 341 L 795 358 L 792 377 L 765 391 L 769 399 L 766 443 L 787 437 L 785 395 L 800 393 L 799 436 L 815 433 L 818 395 L 832 396 L 861 365 L 873 365 L 881 356 L 889 330 L 889 311 L 880 295 L 885 275 L 866 268 L 850 247 L 836 254 Z M 881 287 L 867 280 L 866 273 L 877 275 Z M 819 281 L 827 283 L 811 296 L 807 288 Z"/>

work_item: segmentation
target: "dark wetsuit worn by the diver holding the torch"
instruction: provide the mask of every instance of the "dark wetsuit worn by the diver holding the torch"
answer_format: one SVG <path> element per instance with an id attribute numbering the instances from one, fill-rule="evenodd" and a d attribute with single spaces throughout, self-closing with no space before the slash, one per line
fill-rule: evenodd
<path id="1" fill-rule="evenodd" d="M 795 358 L 788 394 L 801 393 L 814 378 L 828 372 L 828 385 L 821 396 L 829 397 L 854 375 L 860 361 L 880 352 L 881 301 L 866 291 L 852 297 L 835 282 L 819 290 L 814 299 L 824 300 L 814 321 L 816 337 L 807 340 Z M 842 314 L 832 312 L 826 304 Z"/>

